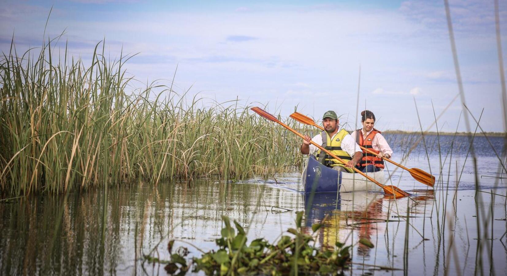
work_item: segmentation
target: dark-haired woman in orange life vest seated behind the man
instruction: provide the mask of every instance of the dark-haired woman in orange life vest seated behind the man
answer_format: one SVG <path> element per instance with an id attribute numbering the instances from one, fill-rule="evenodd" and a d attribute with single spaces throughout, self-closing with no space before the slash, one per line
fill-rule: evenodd
<path id="1" fill-rule="evenodd" d="M 369 110 L 361 112 L 363 128 L 354 130 L 352 137 L 359 146 L 375 152 L 377 155 L 366 152 L 363 149 L 363 159 L 357 163 L 357 168 L 363 172 L 375 172 L 384 168 L 382 157 L 391 158 L 392 150 L 385 141 L 379 130 L 373 128 L 375 115 Z"/>

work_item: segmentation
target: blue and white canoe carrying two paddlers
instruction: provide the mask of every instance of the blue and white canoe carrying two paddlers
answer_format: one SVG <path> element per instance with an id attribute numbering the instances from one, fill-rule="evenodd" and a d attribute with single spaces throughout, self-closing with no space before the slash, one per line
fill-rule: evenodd
<path id="1" fill-rule="evenodd" d="M 384 171 L 368 172 L 368 176 L 384 183 Z M 302 176 L 305 193 L 378 191 L 381 188 L 360 174 L 337 171 L 320 164 L 310 155 L 308 165 Z"/>

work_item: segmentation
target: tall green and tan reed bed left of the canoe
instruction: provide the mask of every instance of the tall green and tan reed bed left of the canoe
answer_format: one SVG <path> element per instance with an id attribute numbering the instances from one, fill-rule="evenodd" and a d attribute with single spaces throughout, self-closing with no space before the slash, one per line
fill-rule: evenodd
<path id="1" fill-rule="evenodd" d="M 13 44 L 0 58 L 0 193 L 241 179 L 302 165 L 297 137 L 248 105 L 131 88 L 129 57 L 109 60 L 99 45 L 89 66 L 66 48 L 55 58 L 51 42 L 22 56 Z"/>

